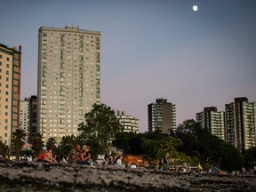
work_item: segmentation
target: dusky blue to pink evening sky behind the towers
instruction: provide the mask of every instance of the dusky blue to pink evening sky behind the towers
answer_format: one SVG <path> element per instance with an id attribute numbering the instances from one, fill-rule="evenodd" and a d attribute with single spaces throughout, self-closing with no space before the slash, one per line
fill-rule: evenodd
<path id="1" fill-rule="evenodd" d="M 38 29 L 72 25 L 100 30 L 101 102 L 140 132 L 157 98 L 176 105 L 177 125 L 256 101 L 254 0 L 0 0 L 0 44 L 22 46 L 21 100 L 37 92 Z"/>

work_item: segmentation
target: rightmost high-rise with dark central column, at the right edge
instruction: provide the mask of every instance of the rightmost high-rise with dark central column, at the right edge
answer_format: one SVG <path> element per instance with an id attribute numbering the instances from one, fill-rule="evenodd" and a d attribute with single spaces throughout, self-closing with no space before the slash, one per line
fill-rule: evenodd
<path id="1" fill-rule="evenodd" d="M 235 98 L 226 104 L 227 141 L 243 152 L 255 147 L 256 143 L 256 102 L 246 97 Z"/>

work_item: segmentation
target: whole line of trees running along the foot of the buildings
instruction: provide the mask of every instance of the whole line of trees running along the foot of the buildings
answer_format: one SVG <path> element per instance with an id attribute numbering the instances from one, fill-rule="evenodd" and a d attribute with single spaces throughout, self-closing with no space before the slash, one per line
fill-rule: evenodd
<path id="1" fill-rule="evenodd" d="M 108 153 L 110 147 L 124 150 L 124 155 L 143 155 L 152 163 L 161 162 L 164 156 L 170 156 L 170 164 L 212 164 L 220 165 L 228 172 L 241 170 L 241 167 L 252 168 L 256 162 L 256 148 L 249 148 L 240 153 L 234 146 L 213 136 L 207 129 L 197 124 L 194 119 L 185 120 L 177 127 L 176 132 L 164 134 L 157 129 L 154 132 L 124 132 L 124 127 L 115 116 L 115 111 L 105 104 L 94 104 L 92 110 L 84 115 L 84 123 L 78 125 L 77 136 L 64 136 L 61 140 L 49 138 L 45 144 L 40 133 L 32 134 L 28 143 L 34 157 L 43 147 L 51 148 L 53 154 L 60 158 L 68 157 L 74 145 L 89 145 L 92 157 Z M 17 129 L 13 132 L 11 146 L 17 156 L 25 144 L 26 133 Z M 7 154 L 8 147 L 0 142 L 0 154 Z"/>

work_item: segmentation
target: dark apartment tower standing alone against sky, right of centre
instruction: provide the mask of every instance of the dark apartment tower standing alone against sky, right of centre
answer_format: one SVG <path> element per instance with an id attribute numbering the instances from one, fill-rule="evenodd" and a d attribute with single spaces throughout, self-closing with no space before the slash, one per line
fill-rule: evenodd
<path id="1" fill-rule="evenodd" d="M 176 130 L 176 107 L 166 99 L 156 99 L 148 105 L 148 132 L 161 129 L 163 133 Z"/>

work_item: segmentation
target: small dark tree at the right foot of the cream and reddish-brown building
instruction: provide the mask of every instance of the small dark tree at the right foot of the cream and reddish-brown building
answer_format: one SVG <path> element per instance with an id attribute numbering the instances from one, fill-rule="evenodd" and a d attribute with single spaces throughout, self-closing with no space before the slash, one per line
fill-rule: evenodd
<path id="1" fill-rule="evenodd" d="M 20 149 L 25 144 L 24 142 L 25 137 L 26 137 L 26 132 L 21 129 L 16 129 L 15 132 L 12 133 L 11 145 L 17 157 L 20 156 Z"/>

